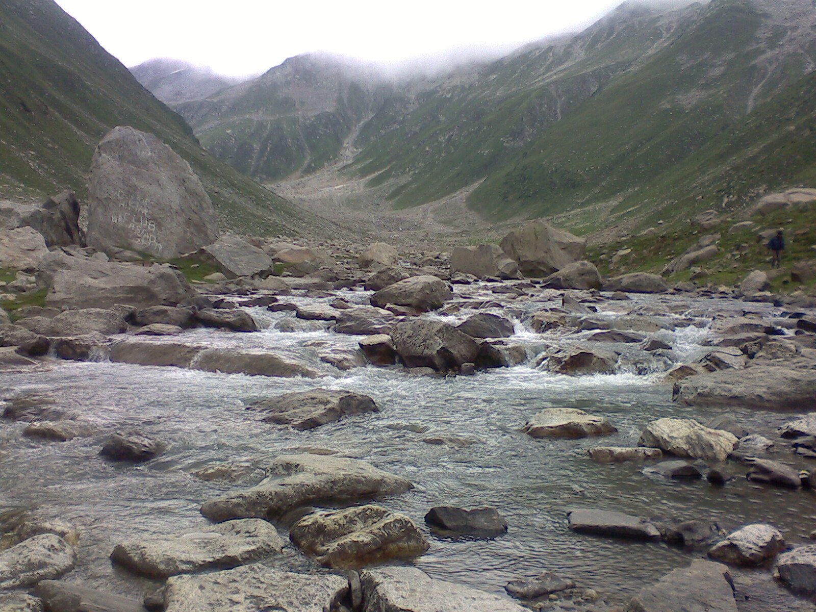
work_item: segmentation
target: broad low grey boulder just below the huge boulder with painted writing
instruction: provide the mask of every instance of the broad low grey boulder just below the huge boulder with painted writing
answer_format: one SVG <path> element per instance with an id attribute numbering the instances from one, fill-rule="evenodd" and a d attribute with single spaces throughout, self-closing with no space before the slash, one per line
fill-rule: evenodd
<path id="1" fill-rule="evenodd" d="M 140 266 L 72 257 L 52 251 L 42 258 L 38 279 L 51 286 L 46 303 L 55 308 L 139 308 L 180 304 L 197 294 L 170 266 Z"/>

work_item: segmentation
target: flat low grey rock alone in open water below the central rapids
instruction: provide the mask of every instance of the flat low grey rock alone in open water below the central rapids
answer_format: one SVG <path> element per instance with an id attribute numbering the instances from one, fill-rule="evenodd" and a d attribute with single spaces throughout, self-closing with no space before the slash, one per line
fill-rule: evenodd
<path id="1" fill-rule="evenodd" d="M 374 400 L 367 395 L 332 389 L 284 393 L 257 401 L 248 408 L 263 412 L 261 420 L 266 423 L 290 425 L 301 431 L 334 423 L 344 416 L 379 412 Z"/>

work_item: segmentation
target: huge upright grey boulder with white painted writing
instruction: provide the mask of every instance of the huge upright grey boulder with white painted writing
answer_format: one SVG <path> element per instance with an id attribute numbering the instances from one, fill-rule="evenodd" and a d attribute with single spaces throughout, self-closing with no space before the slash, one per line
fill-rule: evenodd
<path id="1" fill-rule="evenodd" d="M 113 128 L 88 184 L 87 242 L 173 259 L 218 240 L 218 215 L 189 164 L 152 134 Z"/>

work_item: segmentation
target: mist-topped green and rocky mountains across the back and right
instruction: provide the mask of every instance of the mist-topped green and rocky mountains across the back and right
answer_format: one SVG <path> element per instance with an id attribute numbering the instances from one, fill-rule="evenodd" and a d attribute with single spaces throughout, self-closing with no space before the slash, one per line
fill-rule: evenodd
<path id="1" fill-rule="evenodd" d="M 397 208 L 463 190 L 491 222 L 645 227 L 813 182 L 814 27 L 810 0 L 630 0 L 433 82 L 308 56 L 178 109 L 259 180 L 343 166 Z"/>

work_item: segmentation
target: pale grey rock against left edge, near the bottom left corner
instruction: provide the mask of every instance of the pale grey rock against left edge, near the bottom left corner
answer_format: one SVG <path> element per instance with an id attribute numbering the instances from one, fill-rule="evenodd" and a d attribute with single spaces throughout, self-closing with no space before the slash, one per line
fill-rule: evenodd
<path id="1" fill-rule="evenodd" d="M 0 588 L 30 587 L 73 570 L 73 548 L 56 534 L 35 535 L 0 552 Z"/>

